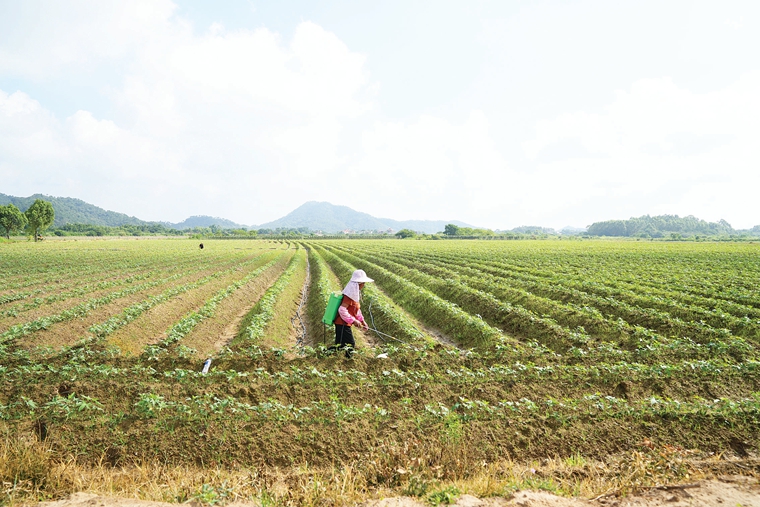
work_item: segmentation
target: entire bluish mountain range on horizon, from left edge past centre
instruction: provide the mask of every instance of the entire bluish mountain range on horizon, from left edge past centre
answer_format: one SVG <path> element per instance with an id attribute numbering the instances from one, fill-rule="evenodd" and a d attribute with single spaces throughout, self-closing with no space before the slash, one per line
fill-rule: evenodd
<path id="1" fill-rule="evenodd" d="M 72 197 L 54 197 L 43 194 L 34 194 L 29 197 L 15 197 L 0 193 L 0 205 L 13 204 L 21 211 L 26 211 L 35 199 L 43 199 L 50 202 L 55 210 L 54 227 L 65 224 L 90 224 L 118 227 L 121 225 L 148 225 L 156 222 L 148 222 L 139 218 L 104 210 L 81 199 Z M 367 213 L 355 211 L 347 206 L 336 206 L 327 202 L 309 201 L 284 217 L 262 224 L 260 226 L 246 226 L 231 220 L 207 215 L 189 217 L 182 222 L 158 222 L 174 229 L 191 229 L 194 227 L 211 227 L 216 225 L 224 229 L 298 229 L 302 227 L 324 233 L 337 233 L 341 231 L 398 231 L 412 229 L 417 232 L 435 233 L 440 232 L 446 224 L 452 223 L 460 227 L 471 227 L 457 220 L 393 220 L 390 218 L 376 218 Z"/>

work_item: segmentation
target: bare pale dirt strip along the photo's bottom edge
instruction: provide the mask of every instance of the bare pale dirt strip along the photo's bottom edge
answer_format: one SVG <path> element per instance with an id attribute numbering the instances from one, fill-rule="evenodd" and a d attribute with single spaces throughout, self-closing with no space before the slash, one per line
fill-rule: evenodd
<path id="1" fill-rule="evenodd" d="M 38 507 L 169 507 L 163 502 L 151 502 L 130 498 L 74 493 L 57 502 L 43 502 Z M 199 506 L 198 503 L 191 505 Z M 258 505 L 254 502 L 234 502 L 228 507 Z M 421 499 L 391 497 L 364 502 L 365 507 L 425 507 Z M 511 498 L 476 498 L 461 495 L 455 504 L 459 507 L 519 506 L 519 507 L 760 507 L 760 484 L 749 477 L 723 477 L 680 486 L 666 486 L 639 495 L 618 498 L 604 496 L 594 500 L 564 498 L 543 491 L 518 491 Z"/>

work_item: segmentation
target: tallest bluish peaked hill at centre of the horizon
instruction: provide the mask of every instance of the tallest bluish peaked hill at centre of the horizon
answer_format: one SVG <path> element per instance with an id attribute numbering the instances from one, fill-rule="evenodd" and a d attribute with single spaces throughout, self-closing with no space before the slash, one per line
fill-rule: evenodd
<path id="1" fill-rule="evenodd" d="M 313 231 L 337 233 L 351 231 L 385 231 L 392 229 L 412 229 L 413 231 L 432 234 L 443 231 L 446 224 L 460 227 L 472 227 L 456 220 L 393 220 L 376 218 L 368 213 L 355 211 L 348 206 L 336 206 L 329 202 L 309 201 L 291 211 L 284 217 L 258 226 L 258 229 L 298 229 L 308 227 Z"/>

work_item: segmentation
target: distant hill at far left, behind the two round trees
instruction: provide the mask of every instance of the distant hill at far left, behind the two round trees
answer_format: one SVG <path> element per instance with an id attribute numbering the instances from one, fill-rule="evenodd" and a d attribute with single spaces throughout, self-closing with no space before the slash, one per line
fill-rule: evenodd
<path id="1" fill-rule="evenodd" d="M 53 205 L 55 210 L 55 221 L 53 227 L 60 227 L 65 224 L 91 224 L 106 225 L 109 227 L 118 227 L 120 225 L 146 225 L 139 218 L 107 211 L 88 204 L 81 199 L 73 197 L 53 197 L 49 195 L 34 194 L 29 197 L 14 197 L 12 195 L 0 194 L 0 205 L 13 204 L 22 212 L 26 211 L 36 199 L 43 199 Z"/>

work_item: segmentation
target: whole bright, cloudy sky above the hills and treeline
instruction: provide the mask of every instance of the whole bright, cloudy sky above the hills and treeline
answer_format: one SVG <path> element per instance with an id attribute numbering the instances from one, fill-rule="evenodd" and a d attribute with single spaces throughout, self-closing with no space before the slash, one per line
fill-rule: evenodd
<path id="1" fill-rule="evenodd" d="M 0 192 L 760 224 L 760 2 L 0 0 Z"/>

